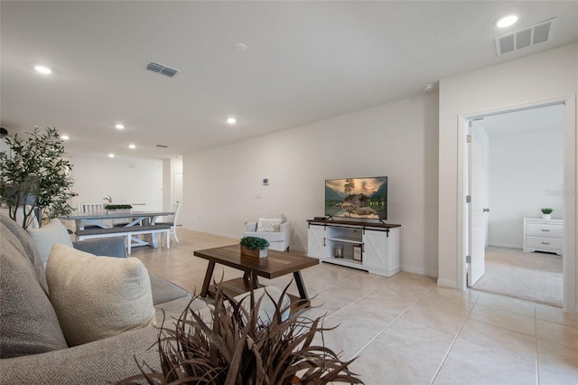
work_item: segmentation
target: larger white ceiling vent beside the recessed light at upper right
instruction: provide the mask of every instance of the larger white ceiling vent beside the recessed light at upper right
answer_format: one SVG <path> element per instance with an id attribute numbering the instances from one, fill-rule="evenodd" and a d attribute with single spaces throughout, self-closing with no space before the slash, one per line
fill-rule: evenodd
<path id="1" fill-rule="evenodd" d="M 555 17 L 542 23 L 537 23 L 523 30 L 508 33 L 494 39 L 497 55 L 514 52 L 552 39 Z"/>

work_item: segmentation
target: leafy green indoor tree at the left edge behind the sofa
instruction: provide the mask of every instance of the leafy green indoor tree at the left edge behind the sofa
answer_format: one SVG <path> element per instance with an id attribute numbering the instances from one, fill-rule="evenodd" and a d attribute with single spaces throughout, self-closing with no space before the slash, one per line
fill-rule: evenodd
<path id="1" fill-rule="evenodd" d="M 27 134 L 27 139 L 18 134 L 6 136 L 11 155 L 0 152 L 0 203 L 14 221 L 23 213 L 20 224 L 24 229 L 34 217 L 42 226 L 43 221 L 70 215 L 74 211 L 70 198 L 78 195 L 71 190 L 72 164 L 62 158 L 66 153 L 56 128 L 46 127 L 42 132 L 34 127 Z"/>

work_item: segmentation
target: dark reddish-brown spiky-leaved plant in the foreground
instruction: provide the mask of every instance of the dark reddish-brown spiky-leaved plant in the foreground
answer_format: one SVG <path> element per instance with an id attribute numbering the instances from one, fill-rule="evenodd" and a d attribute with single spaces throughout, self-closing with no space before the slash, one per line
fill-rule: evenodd
<path id="1" fill-rule="evenodd" d="M 349 370 L 355 359 L 341 361 L 324 346 L 323 333 L 334 328 L 325 328 L 322 317 L 304 316 L 304 305 L 282 305 L 289 286 L 278 299 L 265 290 L 264 296 L 251 292 L 240 301 L 227 296 L 220 284 L 215 287 L 208 310 L 192 310 L 193 296 L 172 327 L 165 326 L 163 317 L 156 344 L 163 372 L 137 362 L 142 374 L 121 384 L 363 383 Z M 274 315 L 259 316 L 264 300 L 275 304 Z M 314 345 L 318 334 L 322 344 Z"/>

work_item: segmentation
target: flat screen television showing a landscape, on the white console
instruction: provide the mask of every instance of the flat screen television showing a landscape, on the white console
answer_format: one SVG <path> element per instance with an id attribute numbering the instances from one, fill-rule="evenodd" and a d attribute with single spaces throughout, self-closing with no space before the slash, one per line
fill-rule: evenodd
<path id="1" fill-rule="evenodd" d="M 387 176 L 326 180 L 325 215 L 387 220 Z"/>

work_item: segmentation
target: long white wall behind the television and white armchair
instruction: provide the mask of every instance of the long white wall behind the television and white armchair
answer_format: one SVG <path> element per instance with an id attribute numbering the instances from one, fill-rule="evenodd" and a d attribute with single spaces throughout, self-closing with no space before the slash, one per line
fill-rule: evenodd
<path id="1" fill-rule="evenodd" d="M 239 238 L 244 221 L 284 212 L 291 249 L 305 251 L 306 220 L 323 215 L 325 179 L 387 175 L 402 270 L 435 277 L 437 123 L 433 92 L 185 155 L 183 226 Z"/>

